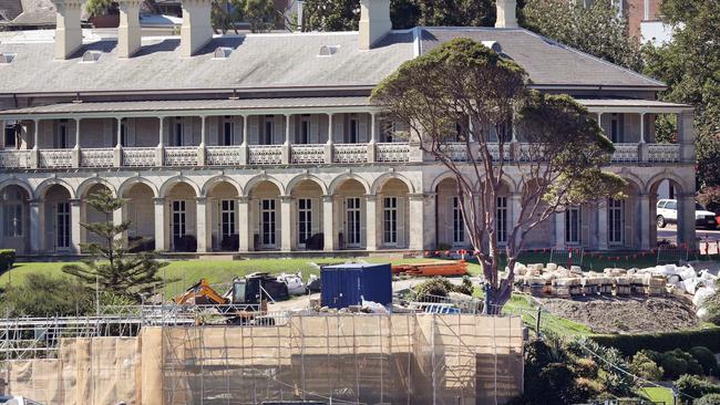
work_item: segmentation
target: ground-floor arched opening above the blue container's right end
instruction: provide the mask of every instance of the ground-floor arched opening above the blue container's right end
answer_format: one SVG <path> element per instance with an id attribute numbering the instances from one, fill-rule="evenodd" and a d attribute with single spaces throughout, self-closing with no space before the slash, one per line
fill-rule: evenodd
<path id="1" fill-rule="evenodd" d="M 378 210 L 376 218 L 380 226 L 380 245 L 389 249 L 404 249 L 410 240 L 409 233 L 409 198 L 408 185 L 399 178 L 385 181 L 378 193 Z"/>

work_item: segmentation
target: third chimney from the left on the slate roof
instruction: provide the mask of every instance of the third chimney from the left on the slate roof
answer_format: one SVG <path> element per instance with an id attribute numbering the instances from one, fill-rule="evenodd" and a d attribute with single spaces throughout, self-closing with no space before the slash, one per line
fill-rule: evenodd
<path id="1" fill-rule="evenodd" d="M 213 39 L 212 0 L 182 0 L 181 54 L 193 56 Z"/>

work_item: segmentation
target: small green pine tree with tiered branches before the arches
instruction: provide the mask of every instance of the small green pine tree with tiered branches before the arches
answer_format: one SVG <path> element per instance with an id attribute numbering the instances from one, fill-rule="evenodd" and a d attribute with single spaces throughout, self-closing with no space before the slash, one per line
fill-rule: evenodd
<path id="1" fill-rule="evenodd" d="M 92 259 L 80 264 L 66 264 L 62 271 L 78 277 L 92 290 L 99 289 L 100 293 L 111 292 L 135 301 L 161 288 L 165 281 L 158 277 L 158 270 L 167 263 L 158 261 L 155 252 L 128 255 L 143 241 L 136 240 L 126 247 L 122 235 L 130 229 L 131 222 L 113 224 L 113 211 L 121 209 L 125 201 L 105 189 L 90 195 L 86 204 L 105 215 L 104 221 L 81 224 L 101 241 L 82 243 L 81 248 Z"/>

